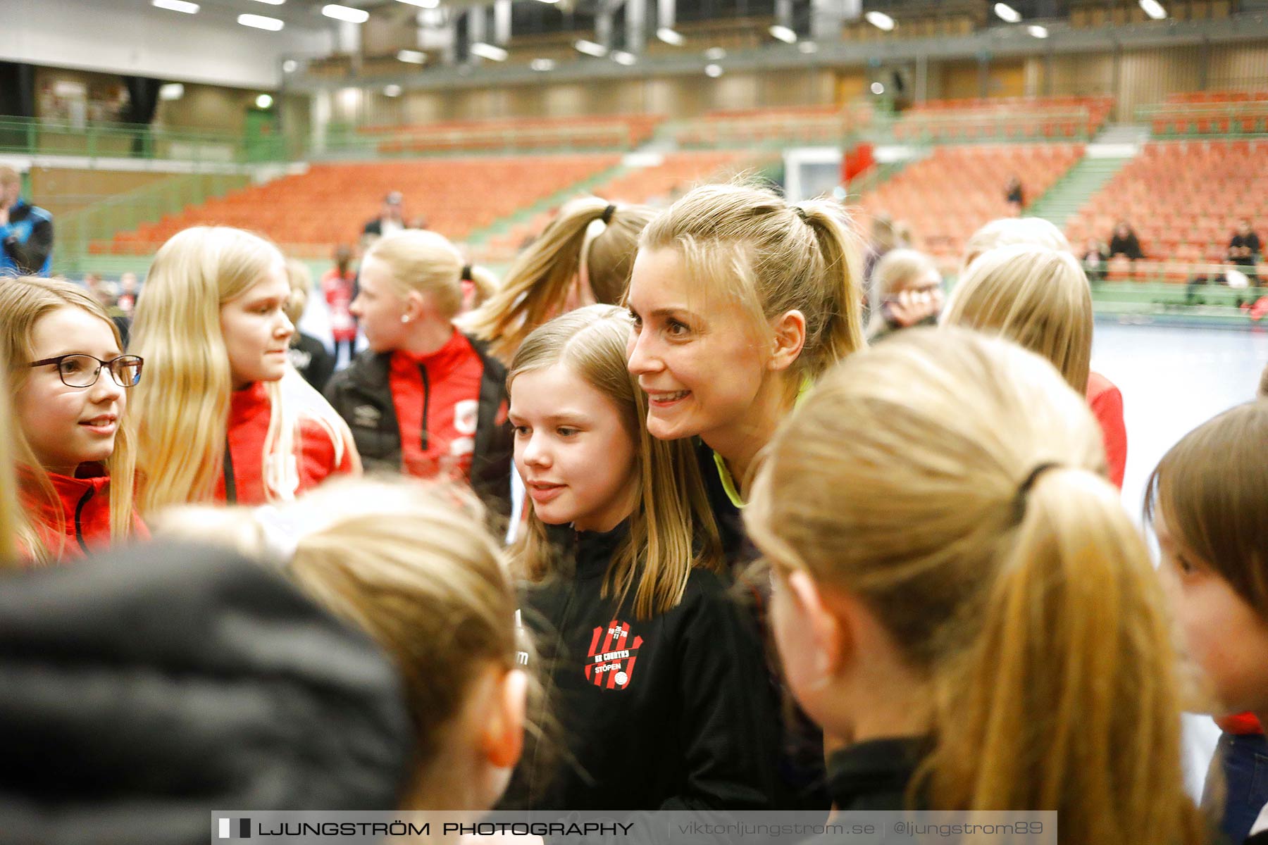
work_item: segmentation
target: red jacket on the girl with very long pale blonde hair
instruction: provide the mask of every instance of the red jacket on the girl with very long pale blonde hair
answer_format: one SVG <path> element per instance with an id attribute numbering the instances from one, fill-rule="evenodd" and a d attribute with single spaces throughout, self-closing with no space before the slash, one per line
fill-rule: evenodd
<path id="1" fill-rule="evenodd" d="M 269 435 L 273 404 L 262 381 L 255 381 L 230 398 L 228 448 L 224 467 L 216 483 L 216 500 L 237 504 L 269 502 L 264 484 L 264 441 Z M 335 443 L 314 419 L 301 419 L 295 442 L 295 475 L 302 493 L 336 473 L 355 467 L 354 446 L 346 443 L 336 460 Z"/>

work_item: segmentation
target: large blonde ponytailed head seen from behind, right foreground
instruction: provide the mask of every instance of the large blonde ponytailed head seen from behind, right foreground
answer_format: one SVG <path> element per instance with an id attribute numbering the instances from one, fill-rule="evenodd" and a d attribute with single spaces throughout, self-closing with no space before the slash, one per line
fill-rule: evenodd
<path id="1" fill-rule="evenodd" d="M 850 737 L 828 763 L 841 811 L 1050 810 L 1063 845 L 1208 841 L 1161 589 L 1104 470 L 1050 364 L 962 329 L 902 332 L 792 413 L 744 519 L 789 685 Z"/>

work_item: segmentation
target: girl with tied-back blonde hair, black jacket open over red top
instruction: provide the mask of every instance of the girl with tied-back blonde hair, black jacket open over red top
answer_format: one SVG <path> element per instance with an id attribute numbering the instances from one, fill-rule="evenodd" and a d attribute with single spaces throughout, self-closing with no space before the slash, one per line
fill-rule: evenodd
<path id="1" fill-rule="evenodd" d="M 506 367 L 455 326 L 463 276 L 444 236 L 410 229 L 361 260 L 351 312 L 369 350 L 330 380 L 326 397 L 370 469 L 468 481 L 500 517 L 511 512 Z"/>

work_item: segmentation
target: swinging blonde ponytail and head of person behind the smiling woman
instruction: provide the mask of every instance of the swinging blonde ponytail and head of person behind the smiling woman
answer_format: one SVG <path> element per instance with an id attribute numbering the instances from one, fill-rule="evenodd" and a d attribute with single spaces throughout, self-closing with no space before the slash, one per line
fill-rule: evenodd
<path id="1" fill-rule="evenodd" d="M 593 303 L 621 302 L 639 233 L 654 212 L 645 205 L 583 196 L 566 204 L 520 253 L 501 290 L 463 319 L 489 351 L 510 361 L 533 329 Z"/>

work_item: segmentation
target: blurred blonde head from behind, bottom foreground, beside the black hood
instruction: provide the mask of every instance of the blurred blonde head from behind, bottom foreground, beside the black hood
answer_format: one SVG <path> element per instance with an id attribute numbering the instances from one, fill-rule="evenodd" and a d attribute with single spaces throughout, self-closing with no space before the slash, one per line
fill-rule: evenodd
<path id="1" fill-rule="evenodd" d="M 399 671 L 413 765 L 399 807 L 488 810 L 524 745 L 529 679 L 506 559 L 470 492 L 413 479 L 337 479 L 294 502 L 169 511 L 156 533 L 280 565 L 368 633 Z"/>

